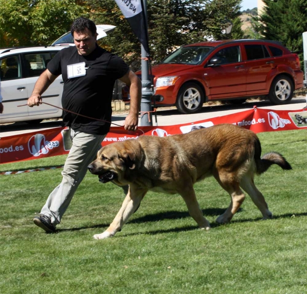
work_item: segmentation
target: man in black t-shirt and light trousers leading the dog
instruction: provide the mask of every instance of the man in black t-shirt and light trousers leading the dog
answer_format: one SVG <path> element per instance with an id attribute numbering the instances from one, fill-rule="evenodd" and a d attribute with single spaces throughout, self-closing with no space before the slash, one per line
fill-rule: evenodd
<path id="1" fill-rule="evenodd" d="M 64 48 L 48 63 L 38 78 L 28 106 L 41 103 L 41 95 L 62 74 L 64 88 L 63 125 L 70 127 L 72 148 L 62 171 L 62 182 L 49 195 L 34 223 L 46 232 L 54 232 L 81 183 L 87 166 L 95 158 L 109 131 L 112 94 L 116 79 L 130 86 L 130 110 L 125 119 L 126 130 L 136 130 L 141 101 L 141 81 L 118 56 L 96 44 L 93 21 L 77 18 L 71 29 L 76 47 Z M 84 118 L 77 114 L 87 116 Z M 99 121 L 100 120 L 100 121 Z M 107 121 L 103 122 L 101 120 Z"/>

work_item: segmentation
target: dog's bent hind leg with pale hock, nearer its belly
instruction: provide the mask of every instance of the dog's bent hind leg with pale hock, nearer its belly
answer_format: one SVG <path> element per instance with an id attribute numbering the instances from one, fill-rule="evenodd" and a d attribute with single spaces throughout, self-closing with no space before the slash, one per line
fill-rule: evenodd
<path id="1" fill-rule="evenodd" d="M 233 175 L 230 173 L 220 173 L 219 175 L 214 175 L 217 182 L 222 186 L 222 188 L 227 191 L 231 197 L 231 202 L 227 210 L 216 218 L 217 223 L 228 223 L 237 212 L 237 210 L 242 205 L 245 194 L 240 189 L 239 183 L 233 179 Z"/>

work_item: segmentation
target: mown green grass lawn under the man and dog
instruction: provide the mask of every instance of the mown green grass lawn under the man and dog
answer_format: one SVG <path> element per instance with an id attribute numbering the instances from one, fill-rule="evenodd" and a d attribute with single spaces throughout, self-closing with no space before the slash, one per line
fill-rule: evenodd
<path id="1" fill-rule="evenodd" d="M 255 179 L 274 218 L 262 221 L 249 197 L 227 225 L 214 220 L 230 198 L 213 178 L 195 185 L 212 229 L 199 230 L 179 195 L 148 193 L 114 238 L 94 240 L 124 195 L 87 174 L 57 234 L 32 218 L 61 180 L 61 169 L 0 176 L 0 293 L 307 293 L 307 132 L 260 133 L 272 166 Z M 60 166 L 65 156 L 3 164 L 0 171 Z"/>

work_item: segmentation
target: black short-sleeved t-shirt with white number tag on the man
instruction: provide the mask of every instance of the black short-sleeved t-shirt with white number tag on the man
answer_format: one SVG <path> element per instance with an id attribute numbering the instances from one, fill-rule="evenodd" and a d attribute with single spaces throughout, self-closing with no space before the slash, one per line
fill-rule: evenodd
<path id="1" fill-rule="evenodd" d="M 83 76 L 68 78 L 68 65 L 85 62 Z M 62 107 L 90 118 L 111 122 L 114 83 L 128 71 L 118 56 L 98 47 L 89 55 L 78 54 L 76 47 L 64 48 L 48 63 L 53 75 L 62 75 Z M 72 66 L 70 66 L 70 70 Z M 110 123 L 87 119 L 64 111 L 63 125 L 90 134 L 106 134 Z"/>

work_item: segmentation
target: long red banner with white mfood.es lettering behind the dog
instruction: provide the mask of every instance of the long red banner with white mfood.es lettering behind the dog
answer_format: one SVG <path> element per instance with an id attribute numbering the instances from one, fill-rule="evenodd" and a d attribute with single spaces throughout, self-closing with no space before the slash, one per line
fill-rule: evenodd
<path id="1" fill-rule="evenodd" d="M 223 123 L 242 126 L 255 133 L 307 129 L 307 111 L 254 107 L 243 112 L 182 125 L 140 127 L 136 132 L 111 127 L 102 145 L 136 139 L 143 134 L 165 137 Z M 69 129 L 62 127 L 3 137 L 0 138 L 0 164 L 67 154 L 71 144 Z"/>

